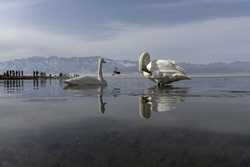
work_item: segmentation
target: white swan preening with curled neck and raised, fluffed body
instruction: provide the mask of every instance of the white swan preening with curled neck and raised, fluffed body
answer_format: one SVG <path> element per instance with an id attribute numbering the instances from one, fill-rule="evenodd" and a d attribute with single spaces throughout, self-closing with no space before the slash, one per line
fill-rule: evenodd
<path id="1" fill-rule="evenodd" d="M 183 68 L 175 64 L 173 60 L 153 60 L 150 55 L 143 52 L 139 58 L 139 72 L 158 86 L 167 85 L 172 82 L 190 79 Z"/>

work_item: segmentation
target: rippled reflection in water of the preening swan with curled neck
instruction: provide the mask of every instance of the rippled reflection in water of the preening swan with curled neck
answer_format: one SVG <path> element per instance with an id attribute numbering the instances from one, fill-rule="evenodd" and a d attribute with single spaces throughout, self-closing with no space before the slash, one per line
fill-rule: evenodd
<path id="1" fill-rule="evenodd" d="M 167 112 L 176 108 L 178 103 L 184 102 L 187 88 L 152 87 L 144 90 L 139 96 L 139 114 L 143 119 L 150 119 L 152 112 Z"/>

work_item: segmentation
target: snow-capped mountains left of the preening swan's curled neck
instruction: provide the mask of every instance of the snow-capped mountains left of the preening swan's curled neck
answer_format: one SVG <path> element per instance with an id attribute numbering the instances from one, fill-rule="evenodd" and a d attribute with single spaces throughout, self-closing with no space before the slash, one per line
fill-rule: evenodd
<path id="1" fill-rule="evenodd" d="M 104 72 L 110 73 L 117 67 L 123 73 L 137 70 L 137 64 L 128 60 L 105 59 Z M 30 57 L 0 62 L 0 71 L 23 70 L 32 73 L 39 70 L 47 73 L 95 73 L 97 70 L 97 57 Z"/>

